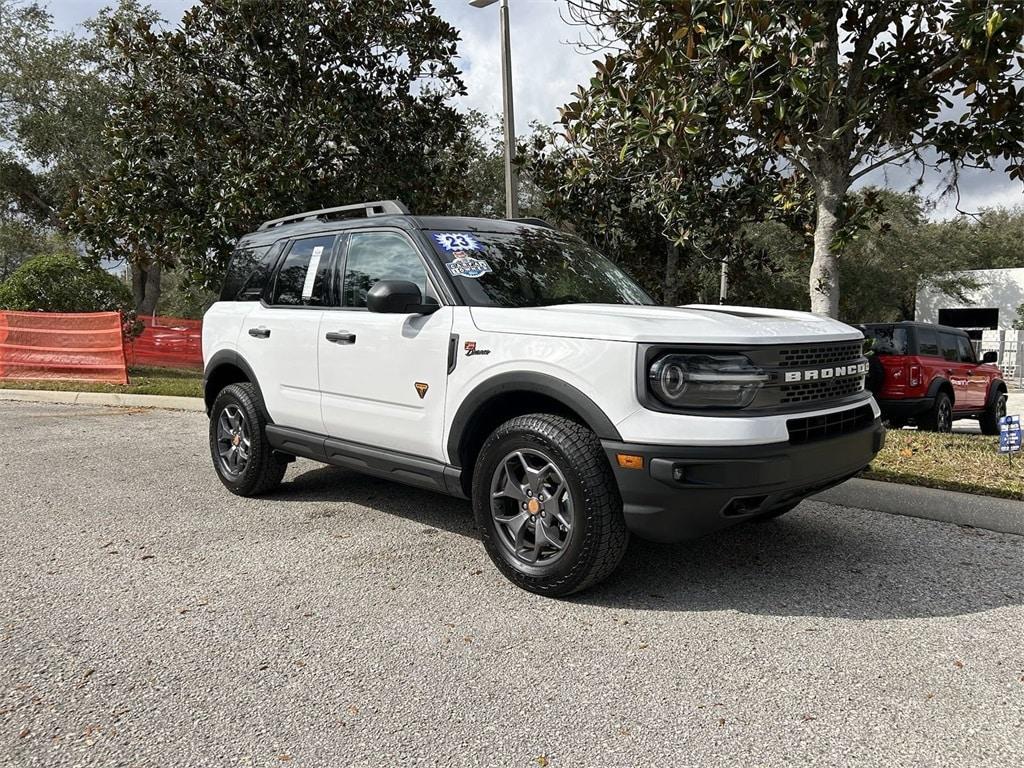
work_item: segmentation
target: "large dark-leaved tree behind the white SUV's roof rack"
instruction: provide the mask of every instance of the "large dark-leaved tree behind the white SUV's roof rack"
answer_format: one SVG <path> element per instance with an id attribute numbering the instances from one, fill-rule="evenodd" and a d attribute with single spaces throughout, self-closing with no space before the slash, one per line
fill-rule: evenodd
<path id="1" fill-rule="evenodd" d="M 466 196 L 458 34 L 429 0 L 203 0 L 175 30 L 115 22 L 110 40 L 113 161 L 76 220 L 140 272 L 180 262 L 212 286 L 265 219 Z"/>

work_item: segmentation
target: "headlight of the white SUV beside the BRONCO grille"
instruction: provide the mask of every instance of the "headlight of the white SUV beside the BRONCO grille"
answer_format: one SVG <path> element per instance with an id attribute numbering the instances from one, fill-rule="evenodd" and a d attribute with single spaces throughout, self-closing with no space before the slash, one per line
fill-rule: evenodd
<path id="1" fill-rule="evenodd" d="M 769 381 L 741 354 L 667 354 L 651 364 L 651 392 L 671 408 L 746 408 Z"/>

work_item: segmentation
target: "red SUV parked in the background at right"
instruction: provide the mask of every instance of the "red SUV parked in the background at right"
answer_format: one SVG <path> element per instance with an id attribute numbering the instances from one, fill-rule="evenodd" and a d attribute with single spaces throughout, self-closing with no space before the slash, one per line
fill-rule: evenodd
<path id="1" fill-rule="evenodd" d="M 995 352 L 978 360 L 966 332 L 927 323 L 858 326 L 870 362 L 867 387 L 895 428 L 915 424 L 948 432 L 954 419 L 977 419 L 984 434 L 999 433 L 1007 385 Z"/>

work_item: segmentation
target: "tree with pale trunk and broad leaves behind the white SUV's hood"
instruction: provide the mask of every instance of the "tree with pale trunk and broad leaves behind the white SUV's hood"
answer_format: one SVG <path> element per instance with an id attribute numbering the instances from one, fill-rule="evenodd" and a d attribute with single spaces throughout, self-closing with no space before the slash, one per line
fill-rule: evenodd
<path id="1" fill-rule="evenodd" d="M 692 234 L 687 220 L 707 215 L 701 196 L 762 185 L 740 201 L 753 212 L 758 198 L 794 204 L 780 180 L 806 185 L 813 311 L 839 314 L 838 257 L 858 222 L 848 193 L 866 174 L 916 161 L 941 166 L 955 185 L 962 168 L 1001 159 L 1024 181 L 1018 1 L 569 5 L 612 50 L 564 110 L 567 140 L 587 145 L 596 125 L 638 178 L 654 169 L 651 203 L 680 243 Z"/>

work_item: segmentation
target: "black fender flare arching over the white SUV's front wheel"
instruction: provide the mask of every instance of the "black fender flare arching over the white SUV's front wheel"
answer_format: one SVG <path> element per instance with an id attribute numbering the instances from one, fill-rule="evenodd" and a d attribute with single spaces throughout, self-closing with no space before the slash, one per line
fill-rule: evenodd
<path id="1" fill-rule="evenodd" d="M 590 397 L 571 384 L 547 374 L 531 371 L 499 374 L 478 384 L 466 397 L 452 420 L 449 432 L 447 455 L 453 464 L 460 462 L 460 447 L 467 428 L 480 408 L 497 395 L 508 392 L 543 394 L 557 400 L 565 408 L 580 415 L 588 427 L 604 440 L 622 440 L 623 437 L 611 423 L 611 419 Z"/>

